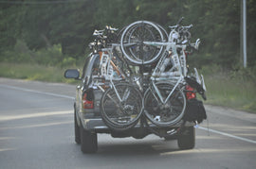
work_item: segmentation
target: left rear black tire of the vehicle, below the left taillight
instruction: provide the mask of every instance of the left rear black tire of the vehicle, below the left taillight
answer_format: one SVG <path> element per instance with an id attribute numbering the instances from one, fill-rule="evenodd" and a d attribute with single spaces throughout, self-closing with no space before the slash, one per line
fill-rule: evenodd
<path id="1" fill-rule="evenodd" d="M 96 153 L 98 150 L 97 133 L 92 133 L 80 127 L 82 153 Z"/>

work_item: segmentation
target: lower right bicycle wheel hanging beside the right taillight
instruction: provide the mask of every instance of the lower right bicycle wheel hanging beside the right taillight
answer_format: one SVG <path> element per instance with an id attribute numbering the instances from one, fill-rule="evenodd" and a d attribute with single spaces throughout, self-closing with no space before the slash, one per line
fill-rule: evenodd
<path id="1" fill-rule="evenodd" d="M 163 100 L 174 89 L 174 84 L 167 82 L 158 82 L 155 84 Z M 166 104 L 163 104 L 157 93 L 150 88 L 147 89 L 144 96 L 144 112 L 146 117 L 158 127 L 171 127 L 179 122 L 185 112 L 186 97 L 185 94 L 176 88 Z"/>

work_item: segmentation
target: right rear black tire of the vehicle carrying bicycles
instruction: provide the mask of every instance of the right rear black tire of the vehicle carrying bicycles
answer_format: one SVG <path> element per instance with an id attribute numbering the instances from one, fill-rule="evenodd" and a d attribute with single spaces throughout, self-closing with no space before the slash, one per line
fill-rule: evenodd
<path id="1" fill-rule="evenodd" d="M 180 149 L 192 149 L 195 144 L 195 129 L 194 127 L 187 127 L 178 135 L 177 144 Z"/>

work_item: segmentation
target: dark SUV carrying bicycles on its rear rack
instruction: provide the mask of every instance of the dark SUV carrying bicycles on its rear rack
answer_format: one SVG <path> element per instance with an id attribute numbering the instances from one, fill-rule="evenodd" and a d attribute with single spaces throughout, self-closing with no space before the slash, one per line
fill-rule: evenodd
<path id="1" fill-rule="evenodd" d="M 186 122 L 182 125 L 176 124 L 172 127 L 155 127 L 153 124 L 144 126 L 141 122 L 129 130 L 113 130 L 101 118 L 101 95 L 102 91 L 92 85 L 92 76 L 97 74 L 100 66 L 100 56 L 91 54 L 86 58 L 82 70 L 82 76 L 76 69 L 65 71 L 66 78 L 80 80 L 76 88 L 76 100 L 74 103 L 75 141 L 81 144 L 83 153 L 95 153 L 98 150 L 98 133 L 109 133 L 114 138 L 134 137 L 142 139 L 149 134 L 156 134 L 166 140 L 177 139 L 178 146 L 182 149 L 193 148 L 195 143 L 194 123 Z M 180 131 L 176 134 L 168 135 L 177 127 Z M 161 134 L 164 133 L 164 134 Z"/>

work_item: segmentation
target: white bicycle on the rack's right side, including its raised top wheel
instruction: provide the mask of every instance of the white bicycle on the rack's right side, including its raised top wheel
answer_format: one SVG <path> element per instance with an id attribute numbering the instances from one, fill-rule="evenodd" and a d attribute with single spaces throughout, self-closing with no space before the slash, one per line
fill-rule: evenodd
<path id="1" fill-rule="evenodd" d="M 190 43 L 191 34 L 188 30 L 192 25 L 180 26 L 181 21 L 171 26 L 168 42 L 165 42 L 160 28 L 148 21 L 128 25 L 121 36 L 121 49 L 126 59 L 140 65 L 157 60 L 143 99 L 146 117 L 158 127 L 170 127 L 179 122 L 186 108 L 185 50 L 188 46 L 186 43 Z M 191 46 L 197 49 L 199 43 L 198 39 Z M 171 62 L 171 69 L 165 71 Z"/>

